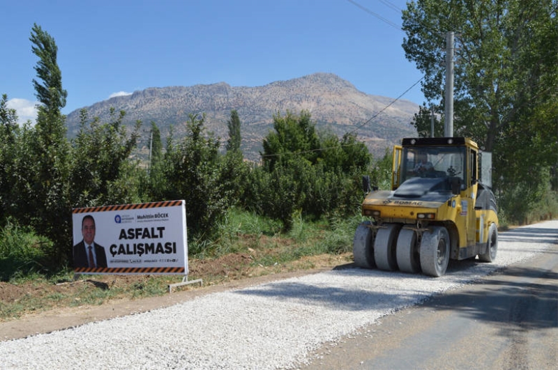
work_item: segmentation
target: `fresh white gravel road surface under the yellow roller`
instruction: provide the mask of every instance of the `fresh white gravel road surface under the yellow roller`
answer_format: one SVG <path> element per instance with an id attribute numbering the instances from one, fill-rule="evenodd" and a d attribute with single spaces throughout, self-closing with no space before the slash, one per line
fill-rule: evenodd
<path id="1" fill-rule="evenodd" d="M 404 307 L 556 252 L 558 221 L 501 233 L 495 263 L 444 277 L 345 268 L 204 295 L 172 307 L 0 342 L 0 369 L 290 369 Z M 1 333 L 0 333 L 1 334 Z"/>

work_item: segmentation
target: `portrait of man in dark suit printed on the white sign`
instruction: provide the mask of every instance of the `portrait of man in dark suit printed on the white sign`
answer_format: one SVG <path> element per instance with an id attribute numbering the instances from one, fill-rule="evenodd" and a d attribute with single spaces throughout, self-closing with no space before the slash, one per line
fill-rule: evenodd
<path id="1" fill-rule="evenodd" d="M 95 219 L 86 215 L 82 219 L 83 240 L 73 247 L 75 268 L 106 268 L 107 254 L 105 248 L 98 245 L 95 239 Z"/>

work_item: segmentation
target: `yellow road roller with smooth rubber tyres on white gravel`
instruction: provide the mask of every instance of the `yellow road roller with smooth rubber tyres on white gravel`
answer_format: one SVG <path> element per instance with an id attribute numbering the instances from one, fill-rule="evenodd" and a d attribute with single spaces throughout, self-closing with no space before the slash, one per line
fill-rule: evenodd
<path id="1" fill-rule="evenodd" d="M 445 274 L 449 259 L 492 262 L 497 208 L 490 153 L 462 137 L 403 139 L 391 190 L 368 192 L 353 241 L 362 268 Z"/>

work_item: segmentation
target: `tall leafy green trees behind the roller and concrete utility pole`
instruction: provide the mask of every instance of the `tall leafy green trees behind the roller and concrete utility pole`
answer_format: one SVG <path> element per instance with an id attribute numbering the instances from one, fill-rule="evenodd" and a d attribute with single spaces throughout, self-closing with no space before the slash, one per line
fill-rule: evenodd
<path id="1" fill-rule="evenodd" d="M 493 153 L 497 192 L 527 199 L 503 200 L 512 218 L 534 210 L 529 199 L 546 186 L 548 169 L 556 173 L 556 10 L 555 0 L 423 0 L 408 3 L 402 16 L 403 48 L 425 74 L 428 100 L 444 89 L 444 32 L 456 32 L 454 136 L 472 137 Z M 444 103 L 434 105 L 437 115 Z M 423 136 L 429 121 L 424 106 L 414 119 Z"/>

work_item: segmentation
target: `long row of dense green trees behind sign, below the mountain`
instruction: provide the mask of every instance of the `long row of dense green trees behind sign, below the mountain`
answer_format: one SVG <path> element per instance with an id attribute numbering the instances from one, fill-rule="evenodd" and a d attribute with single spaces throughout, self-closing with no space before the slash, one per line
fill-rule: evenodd
<path id="1" fill-rule="evenodd" d="M 70 140 L 63 117 L 53 123 L 43 116 L 46 106 L 39 107 L 36 125 L 20 126 L 6 102 L 3 95 L 0 227 L 15 222 L 52 240 L 54 265 L 71 261 L 72 208 L 184 199 L 189 238 L 213 238 L 234 206 L 278 219 L 288 230 L 295 214 L 354 215 L 362 198 L 357 179 L 372 160 L 356 137 L 319 132 L 303 111 L 277 114 L 276 131 L 264 139 L 273 148 L 265 146 L 261 165 L 246 162 L 233 110 L 225 153 L 204 130 L 204 114 L 190 114 L 186 136 L 171 134 L 165 148 L 151 123 L 151 165 L 145 168 L 133 155 L 141 123 L 128 130 L 123 111 L 112 109 L 110 121 L 101 123 L 82 110 L 80 131 Z"/>

